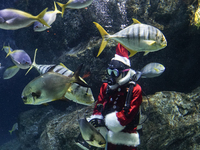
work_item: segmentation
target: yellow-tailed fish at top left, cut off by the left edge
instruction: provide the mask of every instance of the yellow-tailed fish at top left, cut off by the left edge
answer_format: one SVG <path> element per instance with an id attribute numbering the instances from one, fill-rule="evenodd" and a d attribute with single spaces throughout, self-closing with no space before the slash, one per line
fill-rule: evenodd
<path id="1" fill-rule="evenodd" d="M 35 21 L 39 21 L 50 28 L 50 26 L 43 19 L 47 9 L 48 8 L 44 9 L 37 16 L 33 16 L 27 12 L 17 9 L 0 10 L 0 28 L 6 30 L 17 30 L 28 27 Z"/>

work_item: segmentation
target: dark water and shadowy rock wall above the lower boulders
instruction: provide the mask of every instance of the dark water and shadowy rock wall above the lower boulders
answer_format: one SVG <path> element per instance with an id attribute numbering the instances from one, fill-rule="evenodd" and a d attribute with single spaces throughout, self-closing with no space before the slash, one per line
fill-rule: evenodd
<path id="1" fill-rule="evenodd" d="M 154 4 L 149 9 L 148 17 L 153 16 L 152 18 L 155 21 L 165 26 L 162 32 L 166 36 L 168 46 L 158 52 L 149 53 L 147 56 L 143 56 L 143 53 L 138 53 L 130 58 L 132 68 L 135 70 L 140 70 L 150 62 L 159 62 L 166 68 L 165 72 L 157 78 L 139 80 L 138 83 L 147 94 L 154 94 L 157 91 L 188 93 L 200 84 L 200 31 L 195 26 L 190 25 L 189 16 L 191 14 L 187 11 L 187 5 L 188 3 L 180 1 L 177 4 L 179 13 L 175 9 L 173 13 L 167 15 L 162 12 L 155 14 Z M 37 15 L 45 7 L 49 7 L 50 10 L 54 9 L 53 1 L 1 0 L 0 9 L 10 7 L 33 15 Z M 104 4 L 102 1 L 95 1 L 87 10 L 66 10 L 63 18 L 60 15 L 57 16 L 57 20 L 52 25 L 52 28 L 48 30 L 49 32 L 35 33 L 32 26 L 16 31 L 0 29 L 0 48 L 3 47 L 3 43 L 9 43 L 13 49 L 24 49 L 32 59 L 34 50 L 39 48 L 38 64 L 58 64 L 63 62 L 72 71 L 75 71 L 75 68 L 80 63 L 84 63 L 82 74 L 85 71 L 91 72 L 91 76 L 86 81 L 92 86 L 94 97 L 97 98 L 101 85 L 101 75 L 105 74 L 107 64 L 115 54 L 115 45 L 107 46 L 98 58 L 96 58 L 96 55 L 99 45 L 85 51 L 84 54 L 79 54 L 78 58 L 65 56 L 62 61 L 59 58 L 64 52 L 76 47 L 79 43 L 91 41 L 91 37 L 95 37 L 95 39 L 101 38 L 92 23 L 93 21 L 99 22 L 109 33 L 119 31 L 121 24 L 124 22 L 126 25 L 130 25 L 132 17 L 143 23 L 151 24 L 151 22 L 148 22 L 149 18 L 140 15 L 144 14 L 142 12 L 144 8 L 142 7 L 141 12 L 135 15 L 127 11 L 127 18 L 123 18 L 123 15 L 120 16 L 116 7 L 109 3 Z M 104 16 L 101 10 L 105 10 L 107 15 L 104 13 Z M 119 19 L 120 17 L 121 19 Z M 112 22 L 108 23 L 109 20 L 112 20 Z M 106 25 L 111 25 L 111 27 L 106 27 Z M 21 112 L 45 107 L 24 105 L 21 99 L 23 88 L 29 81 L 39 75 L 36 70 L 33 69 L 34 71 L 32 70 L 27 76 L 25 76 L 26 70 L 20 70 L 9 80 L 2 79 L 5 69 L 13 65 L 10 58 L 5 58 L 5 56 L 5 52 L 0 51 L 0 63 L 4 66 L 4 68 L 0 69 L 0 144 L 15 138 L 16 135 L 10 135 L 8 130 L 17 122 L 18 115 Z M 57 109 L 64 109 L 68 103 L 58 101 L 50 103 L 50 105 L 54 105 Z"/>

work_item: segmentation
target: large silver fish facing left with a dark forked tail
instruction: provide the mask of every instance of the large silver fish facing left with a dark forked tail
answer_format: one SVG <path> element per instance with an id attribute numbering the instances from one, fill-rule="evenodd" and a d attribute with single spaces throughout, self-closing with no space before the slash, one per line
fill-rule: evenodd
<path id="1" fill-rule="evenodd" d="M 22 91 L 24 104 L 40 105 L 63 99 L 71 83 L 88 86 L 78 76 L 82 66 L 72 77 L 66 77 L 55 72 L 47 72 L 29 82 Z"/>

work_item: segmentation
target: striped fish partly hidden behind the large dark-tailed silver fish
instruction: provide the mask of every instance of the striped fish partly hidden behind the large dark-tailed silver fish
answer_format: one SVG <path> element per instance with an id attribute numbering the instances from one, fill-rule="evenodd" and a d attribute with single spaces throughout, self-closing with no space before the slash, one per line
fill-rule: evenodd
<path id="1" fill-rule="evenodd" d="M 38 65 L 38 64 L 36 64 L 36 62 L 35 62 L 36 53 L 37 53 L 37 49 L 35 50 L 33 63 L 31 65 L 31 67 L 29 68 L 29 70 L 27 71 L 27 73 L 32 69 L 32 67 L 35 67 L 40 74 L 45 74 L 47 72 L 55 72 L 55 73 L 64 75 L 66 77 L 73 76 L 74 72 L 72 72 L 70 69 L 68 69 L 62 63 L 60 65 L 55 65 L 55 64 Z M 79 77 L 79 78 L 80 78 L 80 80 L 82 80 L 82 82 L 87 84 L 81 77 Z M 69 86 L 69 88 L 67 89 L 67 91 L 65 93 L 65 97 L 69 100 L 72 100 L 76 103 L 83 104 L 83 105 L 91 105 L 92 103 L 94 103 L 94 97 L 93 97 L 91 88 L 81 86 L 78 83 L 71 83 L 71 85 Z"/>

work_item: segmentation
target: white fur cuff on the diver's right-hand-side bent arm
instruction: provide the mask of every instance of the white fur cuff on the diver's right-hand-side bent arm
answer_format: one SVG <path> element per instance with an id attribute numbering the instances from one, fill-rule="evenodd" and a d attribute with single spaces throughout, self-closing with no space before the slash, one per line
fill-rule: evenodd
<path id="1" fill-rule="evenodd" d="M 106 126 L 113 132 L 119 132 L 125 128 L 125 126 L 122 126 L 118 121 L 116 113 L 116 111 L 112 112 L 105 117 Z"/>

